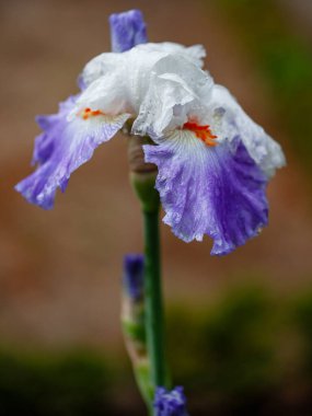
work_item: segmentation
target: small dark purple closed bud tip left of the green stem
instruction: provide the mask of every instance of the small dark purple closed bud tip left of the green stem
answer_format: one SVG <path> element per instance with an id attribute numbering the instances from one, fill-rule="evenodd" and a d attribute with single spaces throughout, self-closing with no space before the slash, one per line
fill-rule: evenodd
<path id="1" fill-rule="evenodd" d="M 134 301 L 139 301 L 143 296 L 143 255 L 127 254 L 124 257 L 124 286 Z"/>

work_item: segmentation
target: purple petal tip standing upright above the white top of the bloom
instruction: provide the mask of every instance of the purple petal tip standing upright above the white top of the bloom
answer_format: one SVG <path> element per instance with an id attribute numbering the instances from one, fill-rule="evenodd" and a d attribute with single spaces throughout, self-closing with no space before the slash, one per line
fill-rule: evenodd
<path id="1" fill-rule="evenodd" d="M 123 53 L 148 42 L 147 27 L 140 10 L 111 14 L 109 24 L 114 53 Z"/>

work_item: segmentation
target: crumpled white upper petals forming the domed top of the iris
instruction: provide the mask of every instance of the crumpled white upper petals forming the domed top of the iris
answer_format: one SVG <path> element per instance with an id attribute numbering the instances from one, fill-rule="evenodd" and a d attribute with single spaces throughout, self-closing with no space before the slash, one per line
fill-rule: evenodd
<path id="1" fill-rule="evenodd" d="M 211 77 L 203 71 L 200 46 L 145 44 L 124 54 L 103 54 L 89 62 L 82 73 L 86 89 L 77 102 L 82 107 L 112 115 L 138 116 L 134 132 L 148 129 L 162 134 L 185 123 L 189 115 L 207 113 L 212 88 Z"/>

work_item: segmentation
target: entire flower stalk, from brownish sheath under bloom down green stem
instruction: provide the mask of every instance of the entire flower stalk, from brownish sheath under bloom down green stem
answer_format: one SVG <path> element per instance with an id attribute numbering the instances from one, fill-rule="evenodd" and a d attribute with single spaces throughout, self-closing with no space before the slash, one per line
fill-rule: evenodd
<path id="1" fill-rule="evenodd" d="M 152 386 L 151 408 L 155 389 L 167 382 L 164 353 L 163 296 L 161 285 L 161 258 L 159 211 L 160 198 L 154 188 L 157 167 L 145 163 L 142 142 L 130 142 L 130 181 L 141 204 L 145 238 L 145 321 L 147 350 Z M 135 148 L 131 148 L 134 146 Z M 131 158 L 132 157 L 132 158 Z"/>

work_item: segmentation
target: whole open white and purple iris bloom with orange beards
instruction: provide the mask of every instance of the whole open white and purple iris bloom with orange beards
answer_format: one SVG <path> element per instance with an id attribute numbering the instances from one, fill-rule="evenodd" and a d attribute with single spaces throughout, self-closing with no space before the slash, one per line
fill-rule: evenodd
<path id="1" fill-rule="evenodd" d="M 57 188 L 129 120 L 132 135 L 154 142 L 143 151 L 158 166 L 163 221 L 186 242 L 208 234 L 211 254 L 230 253 L 267 224 L 266 185 L 285 164 L 279 145 L 201 69 L 203 46 L 146 43 L 138 11 L 111 24 L 115 51 L 85 66 L 81 92 L 58 114 L 37 118 L 37 169 L 16 190 L 50 209 Z"/>

